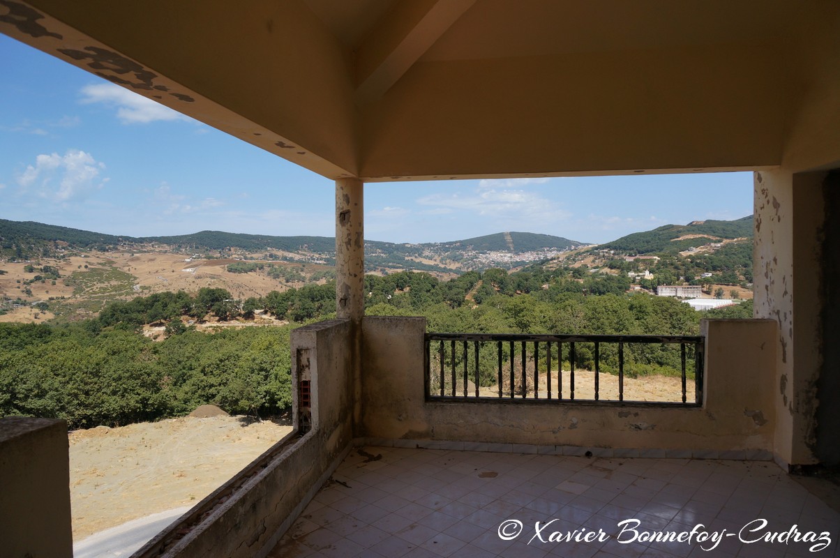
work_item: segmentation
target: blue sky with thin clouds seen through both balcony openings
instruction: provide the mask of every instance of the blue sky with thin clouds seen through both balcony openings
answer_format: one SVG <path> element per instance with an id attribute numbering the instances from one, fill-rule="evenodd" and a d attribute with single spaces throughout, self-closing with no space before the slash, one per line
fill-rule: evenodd
<path id="1" fill-rule="evenodd" d="M 0 218 L 332 236 L 333 182 L 0 34 Z M 753 212 L 752 173 L 365 185 L 365 238 L 606 242 Z"/>

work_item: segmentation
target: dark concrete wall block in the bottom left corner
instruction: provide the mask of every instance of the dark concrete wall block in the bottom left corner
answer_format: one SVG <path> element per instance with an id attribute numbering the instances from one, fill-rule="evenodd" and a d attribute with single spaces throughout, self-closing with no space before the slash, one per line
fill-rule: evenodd
<path id="1" fill-rule="evenodd" d="M 0 555 L 73 555 L 63 420 L 0 419 L 0 518 Z"/>

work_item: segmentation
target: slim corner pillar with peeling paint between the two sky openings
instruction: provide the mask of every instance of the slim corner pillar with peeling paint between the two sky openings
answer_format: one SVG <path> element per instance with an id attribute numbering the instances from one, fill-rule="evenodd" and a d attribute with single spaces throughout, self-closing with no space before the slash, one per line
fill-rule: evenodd
<path id="1" fill-rule="evenodd" d="M 358 178 L 335 181 L 335 302 L 338 318 L 365 313 L 365 204 Z"/>

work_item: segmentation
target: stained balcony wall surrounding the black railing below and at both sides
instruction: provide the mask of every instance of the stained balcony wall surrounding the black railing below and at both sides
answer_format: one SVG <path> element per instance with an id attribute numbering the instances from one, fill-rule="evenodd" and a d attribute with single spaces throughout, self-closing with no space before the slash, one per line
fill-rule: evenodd
<path id="1" fill-rule="evenodd" d="M 710 320 L 703 408 L 426 403 L 423 318 L 363 321 L 361 432 L 386 440 L 463 440 L 590 448 L 764 450 L 774 444 L 774 320 Z"/>

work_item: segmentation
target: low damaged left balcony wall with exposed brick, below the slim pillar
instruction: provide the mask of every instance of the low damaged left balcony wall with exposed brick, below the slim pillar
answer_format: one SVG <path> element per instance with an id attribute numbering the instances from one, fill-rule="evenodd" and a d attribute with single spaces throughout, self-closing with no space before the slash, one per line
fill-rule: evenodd
<path id="1" fill-rule="evenodd" d="M 291 332 L 292 385 L 298 371 L 311 378 L 312 429 L 266 461 L 261 471 L 218 503 L 189 534 L 160 553 L 166 533 L 135 556 L 263 556 L 346 455 L 352 441 L 350 323 L 331 320 Z M 296 399 L 297 401 L 297 399 Z M 201 504 L 199 504 L 201 505 Z"/>

